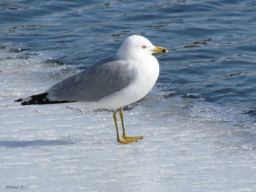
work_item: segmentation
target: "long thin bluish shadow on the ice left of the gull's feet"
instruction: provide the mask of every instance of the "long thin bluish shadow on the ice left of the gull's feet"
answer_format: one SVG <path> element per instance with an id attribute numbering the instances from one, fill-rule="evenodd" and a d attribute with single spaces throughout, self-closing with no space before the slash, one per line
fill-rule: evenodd
<path id="1" fill-rule="evenodd" d="M 56 146 L 72 145 L 74 142 L 65 140 L 34 140 L 34 141 L 0 141 L 0 147 Z"/>

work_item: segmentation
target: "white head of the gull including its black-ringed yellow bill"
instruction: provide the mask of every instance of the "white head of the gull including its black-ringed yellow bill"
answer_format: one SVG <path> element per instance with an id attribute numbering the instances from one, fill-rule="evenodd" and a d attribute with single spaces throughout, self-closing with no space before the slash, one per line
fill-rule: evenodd
<path id="1" fill-rule="evenodd" d="M 132 35 L 125 39 L 118 49 L 116 56 L 120 59 L 144 58 L 154 52 L 168 52 L 163 47 L 155 47 L 147 38 L 140 35 Z"/>

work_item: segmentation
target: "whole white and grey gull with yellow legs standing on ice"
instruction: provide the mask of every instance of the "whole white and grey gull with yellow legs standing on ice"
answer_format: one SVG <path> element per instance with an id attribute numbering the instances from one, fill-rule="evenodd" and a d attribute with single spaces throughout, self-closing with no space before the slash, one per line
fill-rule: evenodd
<path id="1" fill-rule="evenodd" d="M 152 89 L 159 75 L 159 63 L 152 53 L 168 52 L 155 47 L 147 38 L 132 35 L 125 39 L 118 52 L 98 61 L 92 67 L 66 77 L 44 93 L 17 99 L 21 105 L 83 102 L 87 108 L 113 110 L 117 141 L 132 143 L 142 136 L 127 136 L 123 106 L 140 100 Z M 116 110 L 120 108 L 123 138 L 118 129 Z"/>

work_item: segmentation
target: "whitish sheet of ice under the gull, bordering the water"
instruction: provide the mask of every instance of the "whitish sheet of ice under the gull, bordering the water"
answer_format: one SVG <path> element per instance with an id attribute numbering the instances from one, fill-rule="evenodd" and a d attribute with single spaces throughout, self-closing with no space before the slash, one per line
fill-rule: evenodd
<path id="1" fill-rule="evenodd" d="M 13 102 L 76 69 L 47 62 L 57 52 L 11 48 L 0 50 L 0 191 L 256 189 L 255 122 L 244 109 L 175 97 L 158 84 L 124 112 L 127 134 L 144 139 L 122 145 L 110 111 Z"/>

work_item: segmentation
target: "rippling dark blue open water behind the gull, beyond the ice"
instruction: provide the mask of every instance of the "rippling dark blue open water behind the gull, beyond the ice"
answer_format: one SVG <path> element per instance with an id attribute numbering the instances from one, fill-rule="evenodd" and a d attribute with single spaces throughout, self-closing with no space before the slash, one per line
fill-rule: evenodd
<path id="1" fill-rule="evenodd" d="M 255 1 L 0 1 L 0 20 L 1 49 L 61 52 L 52 62 L 78 68 L 143 35 L 169 49 L 164 93 L 256 116 Z"/>

